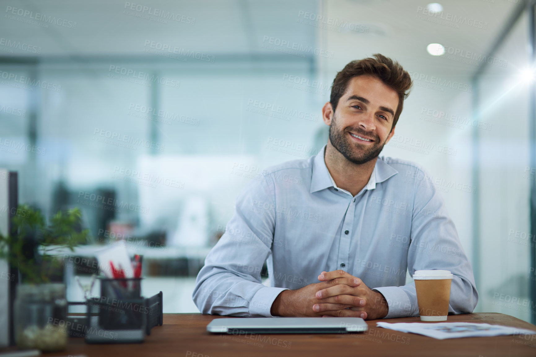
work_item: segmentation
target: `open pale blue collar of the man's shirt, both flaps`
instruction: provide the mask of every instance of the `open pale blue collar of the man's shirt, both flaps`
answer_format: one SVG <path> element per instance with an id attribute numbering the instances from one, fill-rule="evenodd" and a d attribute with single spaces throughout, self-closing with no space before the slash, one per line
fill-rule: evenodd
<path id="1" fill-rule="evenodd" d="M 324 161 L 326 146 L 327 144 L 324 145 L 312 162 L 311 189 L 309 191 L 311 193 L 328 187 L 338 188 L 335 181 L 333 181 L 330 172 L 327 170 L 326 162 Z M 397 173 L 397 170 L 378 157 L 367 186 L 364 188 L 374 189 L 376 188 L 377 183 L 381 183 Z"/>

